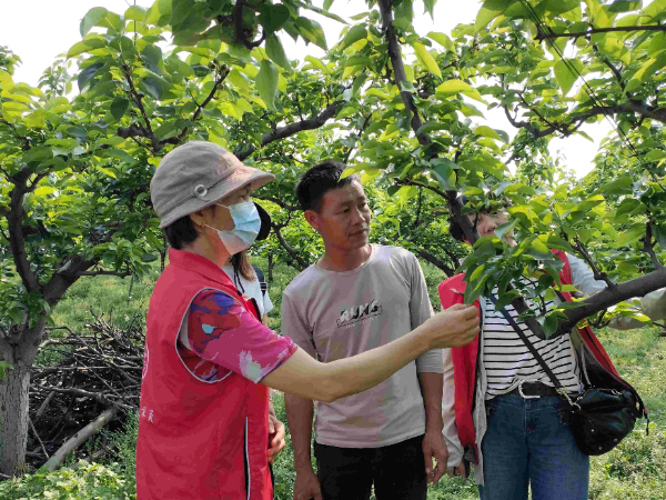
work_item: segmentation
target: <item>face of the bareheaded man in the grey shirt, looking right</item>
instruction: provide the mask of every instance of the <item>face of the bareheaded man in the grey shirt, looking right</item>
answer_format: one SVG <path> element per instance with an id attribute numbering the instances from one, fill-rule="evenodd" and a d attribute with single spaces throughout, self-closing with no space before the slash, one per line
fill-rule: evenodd
<path id="1" fill-rule="evenodd" d="M 307 210 L 305 219 L 320 232 L 326 246 L 357 250 L 367 244 L 372 212 L 363 186 L 356 180 L 327 191 L 320 212 Z"/>

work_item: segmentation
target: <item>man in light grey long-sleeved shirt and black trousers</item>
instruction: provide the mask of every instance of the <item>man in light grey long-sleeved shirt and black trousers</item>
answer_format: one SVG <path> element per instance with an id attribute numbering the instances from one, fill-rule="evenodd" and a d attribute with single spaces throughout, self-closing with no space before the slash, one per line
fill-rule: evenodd
<path id="1" fill-rule="evenodd" d="M 286 287 L 282 299 L 282 331 L 323 362 L 384 346 L 433 314 L 414 254 L 369 244 L 367 198 L 354 176 L 340 179 L 344 168 L 325 161 L 296 188 L 325 252 Z M 317 476 L 310 452 L 314 403 L 285 394 L 294 500 L 369 499 L 373 484 L 377 500 L 425 499 L 427 482 L 446 470 L 442 372 L 442 352 L 430 351 L 365 392 L 317 402 Z"/>

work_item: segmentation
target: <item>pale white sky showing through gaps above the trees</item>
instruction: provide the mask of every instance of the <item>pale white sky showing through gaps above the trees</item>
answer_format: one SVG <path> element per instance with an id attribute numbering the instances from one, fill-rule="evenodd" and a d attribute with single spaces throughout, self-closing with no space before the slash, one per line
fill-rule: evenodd
<path id="1" fill-rule="evenodd" d="M 129 2 L 129 3 L 128 3 Z M 14 81 L 24 81 L 36 86 L 42 71 L 48 68 L 59 54 L 75 42 L 81 40 L 79 23 L 85 12 L 93 7 L 104 7 L 122 14 L 134 0 L 0 0 L 0 46 L 9 47 L 22 59 L 22 64 L 17 69 Z M 152 0 L 135 0 L 141 7 L 150 7 Z M 316 1 L 316 4 L 322 1 Z M 649 3 L 649 2 L 646 2 Z M 435 22 L 428 14 L 423 13 L 423 3 L 416 0 L 414 4 L 414 26 L 416 32 L 425 36 L 430 31 L 441 31 L 450 34 L 458 23 L 474 22 L 481 2 L 478 0 L 438 0 L 435 7 Z M 366 9 L 362 0 L 335 0 L 332 11 L 347 19 Z M 329 47 L 339 39 L 343 24 L 331 19 L 307 12 L 307 17 L 316 19 L 323 27 Z M 353 23 L 353 21 L 350 21 Z M 286 34 L 281 37 L 287 56 L 292 59 L 303 60 L 305 56 L 324 56 L 324 51 L 310 44 L 305 46 L 301 39 L 294 43 Z M 483 104 L 475 102 L 483 108 Z M 485 113 L 485 122 L 493 128 L 505 130 L 511 137 L 516 132 L 498 109 Z M 593 160 L 597 153 L 601 140 L 610 130 L 607 121 L 599 124 L 585 124 L 583 129 L 593 139 L 594 143 L 581 136 L 567 139 L 553 139 L 551 152 L 561 156 L 565 164 L 583 177 L 593 168 Z"/>

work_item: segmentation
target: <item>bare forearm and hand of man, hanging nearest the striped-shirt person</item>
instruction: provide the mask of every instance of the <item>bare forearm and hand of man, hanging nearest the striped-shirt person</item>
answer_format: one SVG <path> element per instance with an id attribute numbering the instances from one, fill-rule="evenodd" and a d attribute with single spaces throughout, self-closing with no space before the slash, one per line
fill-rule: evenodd
<path id="1" fill-rule="evenodd" d="M 423 403 L 425 407 L 425 437 L 423 438 L 423 456 L 428 482 L 437 482 L 446 472 L 448 451 L 442 436 L 442 392 L 444 380 L 442 373 L 418 373 Z M 433 467 L 433 459 L 437 460 Z"/>

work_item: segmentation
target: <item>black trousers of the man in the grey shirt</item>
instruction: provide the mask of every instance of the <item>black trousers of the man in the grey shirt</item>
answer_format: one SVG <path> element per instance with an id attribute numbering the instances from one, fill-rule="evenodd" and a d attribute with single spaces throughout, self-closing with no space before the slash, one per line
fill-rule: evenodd
<path id="1" fill-rule="evenodd" d="M 337 448 L 314 443 L 324 500 L 425 500 L 423 436 L 382 448 Z"/>

